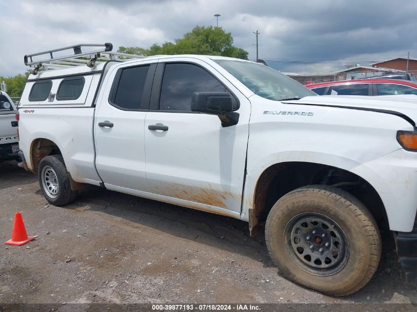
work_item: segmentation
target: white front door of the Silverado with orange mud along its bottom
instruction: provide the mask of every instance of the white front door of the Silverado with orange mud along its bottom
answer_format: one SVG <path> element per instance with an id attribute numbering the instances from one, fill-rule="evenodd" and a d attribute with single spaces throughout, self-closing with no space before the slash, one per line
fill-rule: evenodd
<path id="1" fill-rule="evenodd" d="M 238 100 L 237 125 L 222 127 L 218 116 L 190 110 L 192 94 L 206 91 L 228 92 Z M 249 116 L 248 99 L 207 63 L 160 61 L 145 122 L 150 192 L 189 207 L 240 212 Z"/>

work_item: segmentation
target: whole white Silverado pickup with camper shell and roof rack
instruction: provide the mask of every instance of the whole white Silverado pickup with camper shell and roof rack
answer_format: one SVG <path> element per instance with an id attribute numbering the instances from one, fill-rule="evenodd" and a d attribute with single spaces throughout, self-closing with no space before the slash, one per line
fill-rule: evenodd
<path id="1" fill-rule="evenodd" d="M 71 48 L 78 63 L 25 56 L 20 166 L 49 203 L 93 184 L 265 226 L 279 272 L 335 296 L 371 279 L 391 230 L 416 281 L 417 101 L 316 96 L 219 56 Z"/>

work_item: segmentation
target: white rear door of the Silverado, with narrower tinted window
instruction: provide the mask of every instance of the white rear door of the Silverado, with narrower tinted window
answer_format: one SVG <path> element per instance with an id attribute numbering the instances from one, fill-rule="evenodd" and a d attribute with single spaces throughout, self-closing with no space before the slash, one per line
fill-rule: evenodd
<path id="1" fill-rule="evenodd" d="M 97 172 L 109 189 L 146 190 L 144 127 L 155 68 L 151 61 L 109 72 L 94 120 Z"/>

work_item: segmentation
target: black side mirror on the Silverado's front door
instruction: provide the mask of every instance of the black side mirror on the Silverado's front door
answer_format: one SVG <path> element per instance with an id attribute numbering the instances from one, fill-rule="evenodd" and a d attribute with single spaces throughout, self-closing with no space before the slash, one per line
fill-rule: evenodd
<path id="1" fill-rule="evenodd" d="M 191 111 L 217 115 L 223 127 L 234 126 L 239 121 L 239 113 L 233 111 L 237 101 L 227 92 L 194 92 Z"/>

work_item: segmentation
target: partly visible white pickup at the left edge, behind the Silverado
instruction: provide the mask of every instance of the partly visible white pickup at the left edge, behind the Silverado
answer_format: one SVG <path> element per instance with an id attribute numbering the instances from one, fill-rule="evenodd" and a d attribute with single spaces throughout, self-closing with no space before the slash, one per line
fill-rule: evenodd
<path id="1" fill-rule="evenodd" d="M 0 91 L 0 162 L 19 158 L 16 114 L 13 101 L 7 93 Z"/>

